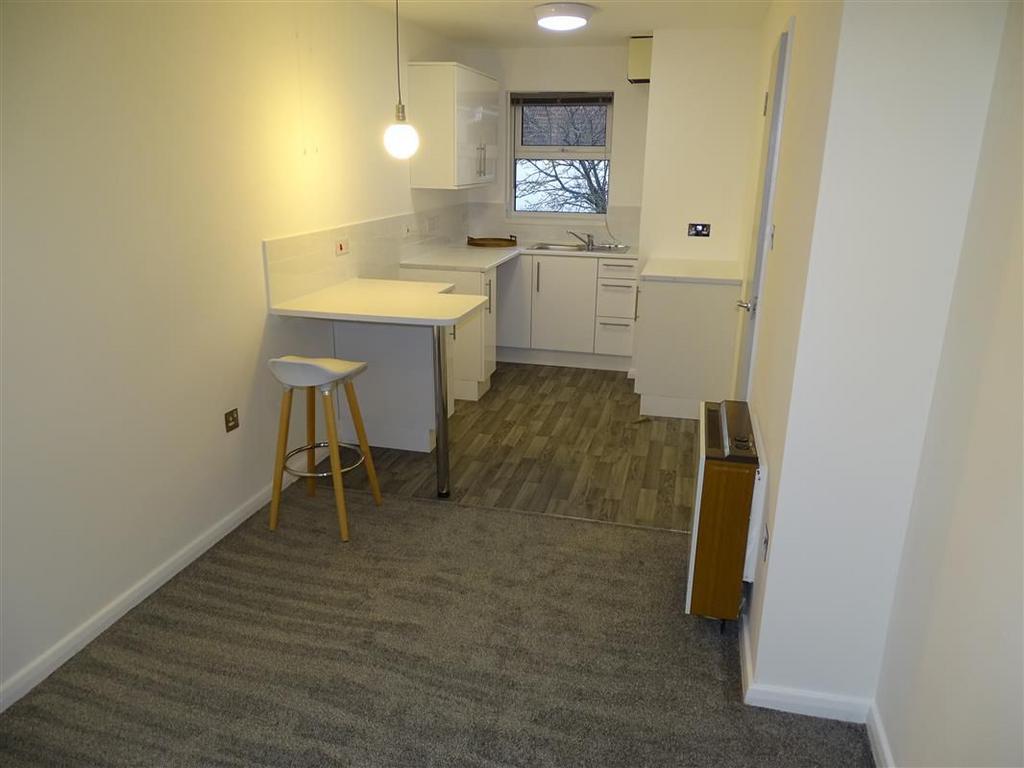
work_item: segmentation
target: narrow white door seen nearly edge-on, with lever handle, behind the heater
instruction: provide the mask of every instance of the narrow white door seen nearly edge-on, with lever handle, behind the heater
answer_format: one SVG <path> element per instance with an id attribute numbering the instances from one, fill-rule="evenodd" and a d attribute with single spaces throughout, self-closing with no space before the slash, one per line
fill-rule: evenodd
<path id="1" fill-rule="evenodd" d="M 775 175 L 778 171 L 778 142 L 782 135 L 782 112 L 785 106 L 786 69 L 790 60 L 790 43 L 793 40 L 793 22 L 782 33 L 775 47 L 771 80 L 765 93 L 765 127 L 761 142 L 761 167 L 758 174 L 760 187 L 758 210 L 754 218 L 753 253 L 748 260 L 744 297 L 736 302 L 743 313 L 736 364 L 737 399 L 751 396 L 751 369 L 757 345 L 758 301 L 764 286 L 765 259 L 774 245 L 772 203 L 775 197 Z"/>

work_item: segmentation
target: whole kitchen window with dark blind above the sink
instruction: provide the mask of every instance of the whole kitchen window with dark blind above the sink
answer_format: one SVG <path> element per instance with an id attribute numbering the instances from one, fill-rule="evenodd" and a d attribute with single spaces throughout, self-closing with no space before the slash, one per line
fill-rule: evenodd
<path id="1" fill-rule="evenodd" d="M 512 94 L 515 213 L 608 210 L 610 93 Z"/>

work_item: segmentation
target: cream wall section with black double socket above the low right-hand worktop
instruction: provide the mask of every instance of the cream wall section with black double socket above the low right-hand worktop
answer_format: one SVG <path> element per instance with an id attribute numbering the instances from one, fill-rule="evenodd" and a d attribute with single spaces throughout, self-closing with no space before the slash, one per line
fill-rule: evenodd
<path id="1" fill-rule="evenodd" d="M 745 262 L 763 88 L 760 33 L 656 30 L 643 177 L 645 258 Z M 711 223 L 688 238 L 687 223 Z"/>

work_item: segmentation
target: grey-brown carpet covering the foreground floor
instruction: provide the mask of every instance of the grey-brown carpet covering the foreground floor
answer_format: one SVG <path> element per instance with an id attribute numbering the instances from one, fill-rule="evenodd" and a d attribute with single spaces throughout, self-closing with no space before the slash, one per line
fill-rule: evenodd
<path id="1" fill-rule="evenodd" d="M 862 726 L 744 707 L 688 538 L 286 496 L 0 716 L 4 766 L 870 766 Z"/>

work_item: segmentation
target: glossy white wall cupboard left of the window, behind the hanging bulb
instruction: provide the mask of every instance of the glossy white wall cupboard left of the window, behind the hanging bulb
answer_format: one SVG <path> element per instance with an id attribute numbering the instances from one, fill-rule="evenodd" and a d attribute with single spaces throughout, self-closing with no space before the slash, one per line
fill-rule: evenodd
<path id="1" fill-rule="evenodd" d="M 498 81 L 455 61 L 411 61 L 409 122 L 420 133 L 412 185 L 460 189 L 498 174 Z"/>

